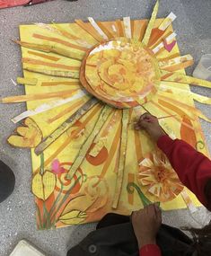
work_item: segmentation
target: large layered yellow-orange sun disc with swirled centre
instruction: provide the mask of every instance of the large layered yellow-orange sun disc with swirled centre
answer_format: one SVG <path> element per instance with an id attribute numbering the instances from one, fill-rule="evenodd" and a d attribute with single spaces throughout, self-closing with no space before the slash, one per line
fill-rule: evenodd
<path id="1" fill-rule="evenodd" d="M 89 50 L 80 73 L 85 89 L 103 102 L 131 108 L 147 102 L 160 84 L 160 71 L 150 49 L 119 38 Z"/>

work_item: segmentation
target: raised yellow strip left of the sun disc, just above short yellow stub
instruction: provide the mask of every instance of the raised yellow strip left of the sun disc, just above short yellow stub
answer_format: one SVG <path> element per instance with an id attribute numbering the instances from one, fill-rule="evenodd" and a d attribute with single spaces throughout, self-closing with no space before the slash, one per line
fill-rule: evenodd
<path id="1" fill-rule="evenodd" d="M 34 72 L 34 73 L 40 73 L 43 75 L 51 75 L 51 76 L 57 76 L 57 77 L 66 77 L 66 78 L 79 78 L 79 72 L 72 72 L 72 71 L 61 71 L 61 70 L 48 70 L 43 68 L 37 68 L 34 66 L 27 66 L 23 67 L 23 70 Z"/>

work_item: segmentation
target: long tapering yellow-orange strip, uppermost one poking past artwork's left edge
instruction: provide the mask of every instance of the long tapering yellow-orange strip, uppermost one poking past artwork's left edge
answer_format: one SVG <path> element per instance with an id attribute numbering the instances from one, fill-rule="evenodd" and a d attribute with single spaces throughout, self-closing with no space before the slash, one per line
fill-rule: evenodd
<path id="1" fill-rule="evenodd" d="M 77 60 L 82 60 L 84 57 L 84 53 L 76 53 L 73 51 L 69 51 L 67 49 L 58 48 L 56 46 L 40 45 L 40 44 L 29 43 L 29 42 L 24 42 L 24 41 L 20 41 L 20 40 L 14 40 L 14 42 L 24 48 L 36 49 L 36 50 L 40 50 L 40 51 L 44 51 L 44 52 L 48 52 L 48 53 L 52 52 L 52 53 L 56 53 L 56 54 L 64 56 L 64 57 L 70 57 L 70 58 L 74 58 Z"/>

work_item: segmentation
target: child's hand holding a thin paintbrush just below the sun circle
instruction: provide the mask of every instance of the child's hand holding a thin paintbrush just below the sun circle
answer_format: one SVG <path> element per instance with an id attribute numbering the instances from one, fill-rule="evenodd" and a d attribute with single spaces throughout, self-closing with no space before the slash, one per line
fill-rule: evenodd
<path id="1" fill-rule="evenodd" d="M 145 129 L 145 131 L 152 137 L 155 141 L 159 137 L 165 135 L 163 128 L 159 125 L 158 119 L 149 113 L 145 113 L 136 122 L 136 129 Z"/>

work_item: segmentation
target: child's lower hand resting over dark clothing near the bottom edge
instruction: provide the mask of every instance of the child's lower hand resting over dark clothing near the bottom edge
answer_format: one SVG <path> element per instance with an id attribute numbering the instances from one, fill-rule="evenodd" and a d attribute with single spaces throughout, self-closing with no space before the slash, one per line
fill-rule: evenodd
<path id="1" fill-rule="evenodd" d="M 146 244 L 156 244 L 156 234 L 162 224 L 160 208 L 153 204 L 133 212 L 132 224 L 139 248 Z"/>

